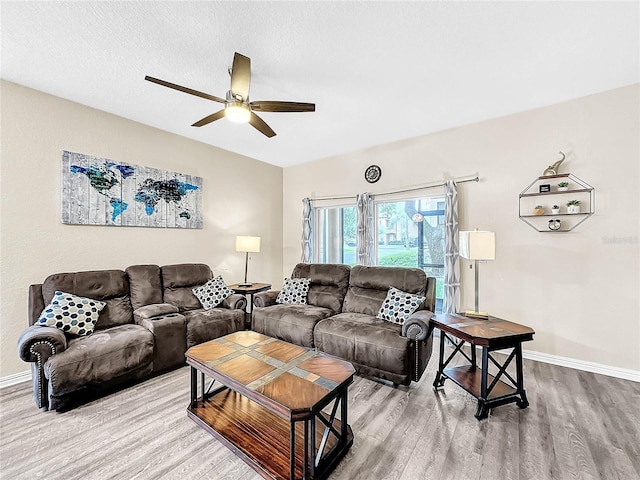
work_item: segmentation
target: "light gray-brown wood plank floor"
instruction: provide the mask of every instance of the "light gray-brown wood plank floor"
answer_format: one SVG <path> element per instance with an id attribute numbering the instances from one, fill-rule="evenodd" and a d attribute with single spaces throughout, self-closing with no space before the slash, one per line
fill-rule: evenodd
<path id="1" fill-rule="evenodd" d="M 357 376 L 354 444 L 338 479 L 640 479 L 640 384 L 525 360 L 530 407 L 474 418 L 475 400 L 436 355 L 411 387 Z M 0 391 L 2 479 L 261 478 L 186 415 L 187 367 L 66 413 L 41 412 L 23 383 Z"/>

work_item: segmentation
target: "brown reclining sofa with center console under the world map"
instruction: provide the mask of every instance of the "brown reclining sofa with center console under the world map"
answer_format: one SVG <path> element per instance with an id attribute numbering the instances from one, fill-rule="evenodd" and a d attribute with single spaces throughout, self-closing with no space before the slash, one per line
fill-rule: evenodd
<path id="1" fill-rule="evenodd" d="M 135 265 L 58 273 L 29 287 L 29 323 L 18 341 L 32 364 L 38 407 L 63 410 L 109 389 L 185 363 L 187 348 L 244 328 L 244 295 L 203 310 L 191 289 L 212 278 L 204 264 Z M 106 303 L 87 336 L 35 325 L 56 290 Z"/>

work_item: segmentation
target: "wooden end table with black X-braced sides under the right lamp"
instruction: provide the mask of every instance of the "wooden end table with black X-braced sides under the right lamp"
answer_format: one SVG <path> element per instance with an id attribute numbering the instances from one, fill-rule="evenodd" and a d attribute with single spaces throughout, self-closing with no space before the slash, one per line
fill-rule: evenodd
<path id="1" fill-rule="evenodd" d="M 429 329 L 434 328 L 440 330 L 438 373 L 433 382 L 435 389 L 442 387 L 448 378 L 469 392 L 478 399 L 478 408 L 475 413 L 478 420 L 487 418 L 491 408 L 507 403 L 515 402 L 520 408 L 529 406 L 522 372 L 522 342 L 533 340 L 535 332 L 531 328 L 497 317 L 489 316 L 488 319 L 480 319 L 465 317 L 462 314 L 435 315 L 429 323 Z M 455 339 L 460 341 L 457 342 Z M 453 352 L 446 360 L 444 358 L 445 340 L 449 340 L 454 346 Z M 471 346 L 471 357 L 462 350 L 465 342 Z M 477 367 L 476 346 L 482 347 L 481 368 Z M 501 365 L 490 355 L 490 352 L 503 349 L 512 349 L 512 351 Z M 447 368 L 449 362 L 458 353 L 471 364 Z M 515 379 L 507 372 L 507 367 L 513 359 L 516 361 Z M 490 361 L 498 368 L 495 376 L 489 373 Z M 503 381 L 503 377 L 510 384 Z"/>

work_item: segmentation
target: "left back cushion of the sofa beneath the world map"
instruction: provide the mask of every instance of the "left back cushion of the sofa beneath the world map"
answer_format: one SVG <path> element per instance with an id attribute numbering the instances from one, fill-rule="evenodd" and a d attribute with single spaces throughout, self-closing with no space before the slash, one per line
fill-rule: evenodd
<path id="1" fill-rule="evenodd" d="M 129 298 L 129 279 L 122 270 L 97 270 L 77 273 L 56 273 L 42 283 L 42 298 L 51 302 L 56 291 L 73 293 L 106 303 L 95 329 L 133 323 Z"/>

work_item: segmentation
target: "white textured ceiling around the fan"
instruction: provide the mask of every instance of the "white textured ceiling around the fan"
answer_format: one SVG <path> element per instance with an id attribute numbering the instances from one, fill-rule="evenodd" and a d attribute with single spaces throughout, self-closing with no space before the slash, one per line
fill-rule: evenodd
<path id="1" fill-rule="evenodd" d="M 280 166 L 639 81 L 638 2 L 7 2 L 2 78 Z M 267 138 L 220 104 L 234 52 Z"/>

